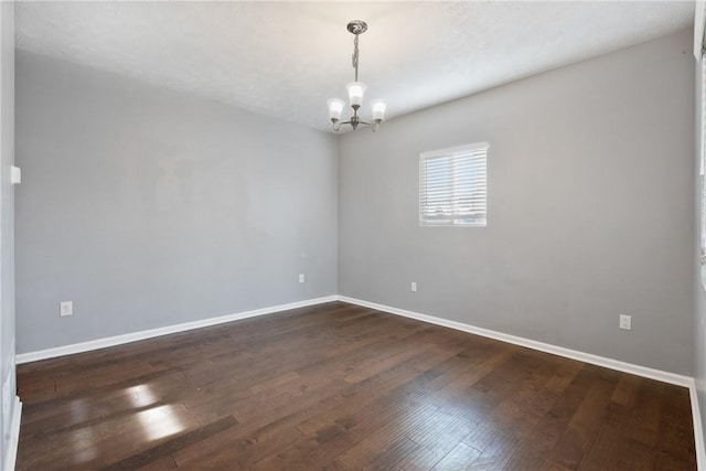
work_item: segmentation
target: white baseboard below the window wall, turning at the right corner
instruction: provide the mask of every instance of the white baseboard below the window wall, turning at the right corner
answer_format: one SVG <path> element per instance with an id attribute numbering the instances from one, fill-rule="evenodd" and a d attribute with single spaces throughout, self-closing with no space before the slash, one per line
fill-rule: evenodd
<path id="1" fill-rule="evenodd" d="M 693 377 L 677 375 L 661 370 L 653 370 L 646 366 L 634 365 L 632 363 L 625 363 L 618 360 L 607 358 L 605 356 L 593 355 L 591 353 L 579 352 L 577 350 L 565 349 L 563 346 L 552 345 L 549 343 L 537 342 L 536 340 L 530 340 L 522 336 L 510 335 L 506 333 L 492 331 L 489 329 L 482 329 L 462 322 L 450 321 L 448 319 L 441 319 L 434 315 L 421 314 L 419 312 L 407 311 L 405 309 L 393 308 L 391 306 L 378 304 L 376 302 L 363 301 L 361 299 L 349 298 L 346 296 L 338 296 L 339 301 L 349 302 L 351 304 L 357 304 L 365 308 L 375 309 L 391 314 L 403 315 L 405 318 L 415 319 L 422 322 L 428 322 L 445 328 L 456 329 L 463 332 L 473 333 L 477 335 L 485 336 L 489 339 L 500 340 L 502 342 L 512 343 L 520 346 L 526 346 L 527 349 L 538 350 L 541 352 L 552 353 L 554 355 L 564 356 L 571 360 L 577 360 L 584 363 L 590 363 L 592 365 L 603 366 L 611 370 L 617 370 L 623 373 L 630 373 L 635 376 L 642 376 L 650 379 L 661 381 L 663 383 L 670 383 L 677 386 L 687 387 L 689 390 L 689 398 L 692 402 L 692 416 L 694 421 L 694 442 L 696 445 L 696 463 L 697 469 L 706 470 L 706 446 L 704 443 L 704 429 L 702 424 L 702 416 L 699 415 L 698 397 L 696 394 L 696 383 Z"/>

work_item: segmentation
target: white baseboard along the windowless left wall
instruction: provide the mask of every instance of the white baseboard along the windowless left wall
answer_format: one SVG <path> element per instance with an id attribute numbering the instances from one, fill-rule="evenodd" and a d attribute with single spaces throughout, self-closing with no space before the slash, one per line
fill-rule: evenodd
<path id="1" fill-rule="evenodd" d="M 238 321 L 242 319 L 254 318 L 257 315 L 271 314 L 275 312 L 288 311 L 290 309 L 304 308 L 307 306 L 321 304 L 324 302 L 335 301 L 336 296 L 327 296 L 323 298 L 307 299 L 303 301 L 290 302 L 287 304 L 272 306 L 269 308 L 254 309 L 252 311 L 243 311 L 234 314 L 220 315 L 217 318 L 202 319 L 199 321 L 184 322 L 164 328 L 143 330 L 139 332 L 126 333 L 122 335 L 107 336 L 104 339 L 92 340 L 88 342 L 74 343 L 71 345 L 56 346 L 53 349 L 40 350 L 36 352 L 21 353 L 15 356 L 17 364 L 36 362 L 40 360 L 54 358 L 57 356 L 73 355 L 75 353 L 89 352 L 92 350 L 105 349 L 107 346 L 121 345 L 124 343 L 137 342 L 139 340 L 152 339 L 170 333 L 184 332 L 193 329 L 205 328 L 208 325 L 222 324 L 225 322 Z"/>

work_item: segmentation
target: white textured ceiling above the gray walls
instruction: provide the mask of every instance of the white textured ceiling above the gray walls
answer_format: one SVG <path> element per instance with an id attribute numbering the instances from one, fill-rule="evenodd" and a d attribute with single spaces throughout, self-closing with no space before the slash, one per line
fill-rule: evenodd
<path id="1" fill-rule="evenodd" d="M 353 19 L 393 118 L 688 28 L 694 2 L 18 2 L 15 28 L 22 50 L 329 129 Z"/>

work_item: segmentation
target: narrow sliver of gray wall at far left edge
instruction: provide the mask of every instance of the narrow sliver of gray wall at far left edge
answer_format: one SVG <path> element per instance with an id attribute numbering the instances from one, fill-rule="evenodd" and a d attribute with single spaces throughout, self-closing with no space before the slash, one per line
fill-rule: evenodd
<path id="1" fill-rule="evenodd" d="M 14 2 L 0 2 L 0 465 L 8 459 L 15 407 L 14 375 Z"/>

